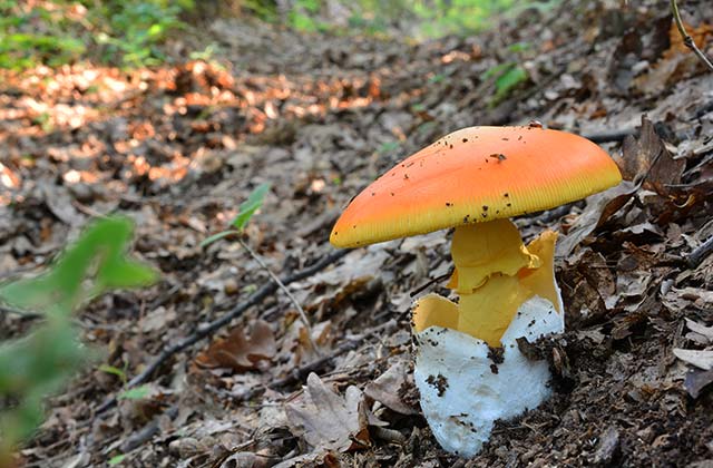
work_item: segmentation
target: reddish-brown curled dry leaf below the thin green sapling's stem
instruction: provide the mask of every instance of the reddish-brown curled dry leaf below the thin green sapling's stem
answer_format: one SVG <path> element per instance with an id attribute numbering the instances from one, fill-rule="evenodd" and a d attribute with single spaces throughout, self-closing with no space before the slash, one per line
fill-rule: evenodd
<path id="1" fill-rule="evenodd" d="M 228 368 L 235 372 L 255 369 L 263 360 L 271 360 L 276 353 L 275 337 L 270 324 L 258 320 L 245 337 L 242 326 L 234 329 L 227 338 L 211 344 L 207 351 L 198 354 L 196 363 L 201 367 Z"/>

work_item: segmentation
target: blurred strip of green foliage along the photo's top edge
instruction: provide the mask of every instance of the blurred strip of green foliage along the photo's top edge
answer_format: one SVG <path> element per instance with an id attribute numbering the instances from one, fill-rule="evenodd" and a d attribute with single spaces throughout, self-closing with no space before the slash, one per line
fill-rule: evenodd
<path id="1" fill-rule="evenodd" d="M 248 16 L 304 32 L 406 36 L 470 35 L 494 17 L 557 0 L 0 0 L 0 68 L 22 70 L 90 59 L 154 66 L 162 47 L 188 22 Z"/>

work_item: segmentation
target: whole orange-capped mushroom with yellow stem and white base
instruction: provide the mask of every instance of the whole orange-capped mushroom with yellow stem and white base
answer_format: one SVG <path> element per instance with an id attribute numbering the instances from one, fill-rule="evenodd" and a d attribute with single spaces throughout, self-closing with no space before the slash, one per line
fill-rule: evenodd
<path id="1" fill-rule="evenodd" d="M 356 247 L 455 227 L 459 301 L 427 294 L 413 306 L 414 380 L 441 446 L 473 456 L 496 420 L 550 393 L 545 361 L 517 345 L 564 331 L 554 275 L 557 234 L 522 244 L 511 216 L 549 209 L 618 184 L 619 170 L 594 143 L 526 127 L 470 127 L 399 163 L 349 204 L 330 242 Z"/>

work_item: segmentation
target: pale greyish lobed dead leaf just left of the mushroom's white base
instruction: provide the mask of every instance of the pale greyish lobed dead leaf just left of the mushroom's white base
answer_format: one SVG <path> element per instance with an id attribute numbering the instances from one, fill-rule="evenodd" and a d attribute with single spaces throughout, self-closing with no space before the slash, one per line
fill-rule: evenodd
<path id="1" fill-rule="evenodd" d="M 361 390 L 351 386 L 342 398 L 315 373 L 310 373 L 304 392 L 304 404 L 286 407 L 292 433 L 304 437 L 312 447 L 326 450 L 369 447 L 369 417 Z"/>

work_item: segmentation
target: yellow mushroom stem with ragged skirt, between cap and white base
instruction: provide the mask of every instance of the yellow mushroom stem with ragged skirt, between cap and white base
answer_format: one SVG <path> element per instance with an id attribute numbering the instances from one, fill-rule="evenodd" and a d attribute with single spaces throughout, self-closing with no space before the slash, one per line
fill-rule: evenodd
<path id="1" fill-rule="evenodd" d="M 443 326 L 500 348 L 512 318 L 530 298 L 539 295 L 561 313 L 554 276 L 556 238 L 548 231 L 526 247 L 509 220 L 457 227 L 451 245 L 456 269 L 448 287 L 458 292 L 460 301 L 442 298 L 417 304 L 417 332 Z"/>

